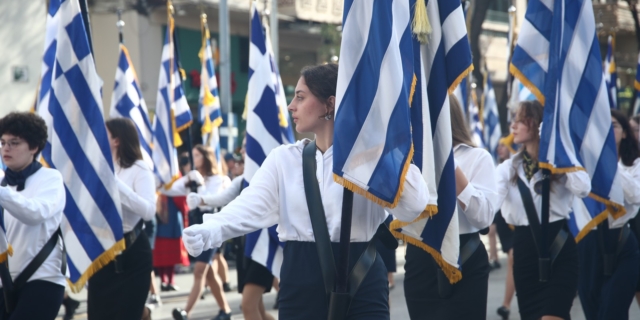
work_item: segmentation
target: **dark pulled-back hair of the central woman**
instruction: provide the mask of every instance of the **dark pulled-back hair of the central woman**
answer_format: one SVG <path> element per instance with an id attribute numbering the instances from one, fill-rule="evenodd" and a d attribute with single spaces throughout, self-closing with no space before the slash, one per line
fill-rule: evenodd
<path id="1" fill-rule="evenodd" d="M 338 86 L 338 65 L 335 63 L 306 66 L 300 71 L 300 76 L 309 87 L 309 91 L 322 102 L 336 95 Z"/>

